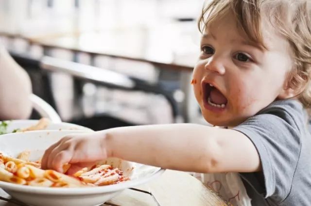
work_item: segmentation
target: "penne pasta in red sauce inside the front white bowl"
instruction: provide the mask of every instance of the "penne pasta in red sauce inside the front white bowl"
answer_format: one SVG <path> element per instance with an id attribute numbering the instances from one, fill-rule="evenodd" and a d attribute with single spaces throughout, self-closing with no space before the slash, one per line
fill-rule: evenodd
<path id="1" fill-rule="evenodd" d="M 73 176 L 58 173 L 54 170 L 42 170 L 40 164 L 26 161 L 30 153 L 21 153 L 20 158 L 11 158 L 0 153 L 0 181 L 37 186 L 37 187 L 93 187 L 117 184 L 126 181 L 122 171 L 112 168 L 111 165 L 86 167 Z M 67 171 L 70 164 L 64 164 Z"/>

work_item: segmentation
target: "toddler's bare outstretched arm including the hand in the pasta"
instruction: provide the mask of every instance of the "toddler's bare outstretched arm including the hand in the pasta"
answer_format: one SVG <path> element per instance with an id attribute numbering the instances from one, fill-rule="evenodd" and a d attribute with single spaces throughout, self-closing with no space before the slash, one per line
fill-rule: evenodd
<path id="1" fill-rule="evenodd" d="M 241 132 L 195 124 L 118 127 L 66 137 L 46 151 L 42 166 L 61 170 L 68 161 L 107 157 L 201 173 L 260 170 L 257 150 Z"/>

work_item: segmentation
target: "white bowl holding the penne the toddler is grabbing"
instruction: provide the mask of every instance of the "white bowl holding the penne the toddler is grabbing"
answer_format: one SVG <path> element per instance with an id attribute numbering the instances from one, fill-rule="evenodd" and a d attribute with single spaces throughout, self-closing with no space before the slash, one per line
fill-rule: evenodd
<path id="1" fill-rule="evenodd" d="M 31 151 L 30 160 L 42 157 L 52 143 L 71 133 L 85 131 L 29 131 L 0 135 L 0 152 L 17 157 L 25 150 Z M 130 180 L 115 185 L 90 188 L 42 188 L 0 181 L 0 188 L 15 199 L 33 206 L 97 206 L 118 195 L 122 190 L 150 181 L 164 170 L 117 158 L 108 159 L 119 167 Z M 134 169 L 133 169 L 133 168 Z"/>

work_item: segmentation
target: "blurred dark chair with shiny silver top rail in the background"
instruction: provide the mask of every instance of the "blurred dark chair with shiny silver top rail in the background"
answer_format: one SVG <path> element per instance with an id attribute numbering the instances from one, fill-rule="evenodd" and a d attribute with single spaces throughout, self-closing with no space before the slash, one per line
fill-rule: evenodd
<path id="1" fill-rule="evenodd" d="M 150 84 L 141 79 L 130 78 L 108 69 L 60 60 L 58 58 L 43 56 L 38 60 L 12 52 L 11 55 L 19 65 L 30 73 L 31 78 L 33 77 L 34 94 L 47 101 L 56 111 L 58 110 L 48 78 L 51 72 L 64 72 L 81 82 L 90 82 L 110 89 L 141 91 L 149 94 L 162 95 L 171 107 L 173 120 L 178 115 L 177 102 L 174 100 L 173 95 L 159 85 Z M 78 116 L 68 122 L 89 127 L 93 130 L 135 125 L 133 122 L 124 121 L 106 113 L 96 113 L 90 117 L 85 115 Z"/>

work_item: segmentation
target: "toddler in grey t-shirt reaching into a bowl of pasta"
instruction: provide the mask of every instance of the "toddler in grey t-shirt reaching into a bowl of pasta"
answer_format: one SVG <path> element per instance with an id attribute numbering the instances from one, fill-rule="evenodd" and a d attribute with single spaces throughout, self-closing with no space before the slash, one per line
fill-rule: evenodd
<path id="1" fill-rule="evenodd" d="M 43 168 L 108 157 L 197 173 L 235 172 L 253 206 L 311 206 L 311 0 L 212 0 L 199 19 L 193 89 L 206 121 L 69 135 Z"/>

